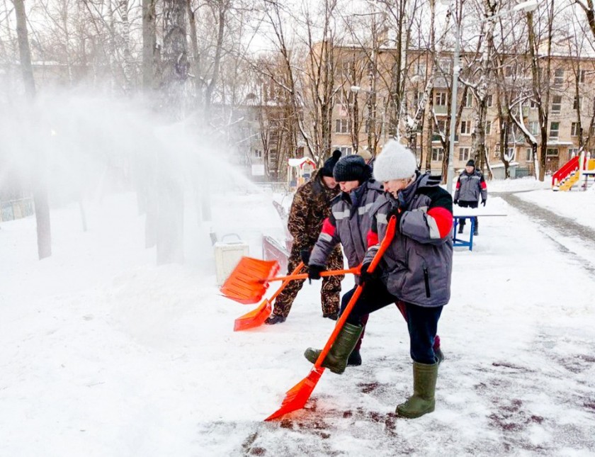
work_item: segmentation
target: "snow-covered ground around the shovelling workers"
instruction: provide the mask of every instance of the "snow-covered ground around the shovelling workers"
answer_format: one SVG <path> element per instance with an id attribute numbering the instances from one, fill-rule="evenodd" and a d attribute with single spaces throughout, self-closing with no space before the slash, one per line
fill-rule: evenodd
<path id="1" fill-rule="evenodd" d="M 595 228 L 591 192 L 521 195 Z M 370 317 L 361 367 L 324 373 L 304 410 L 263 422 L 333 325 L 306 283 L 283 325 L 232 331 L 254 307 L 218 293 L 208 232 L 260 256 L 261 234 L 283 233 L 272 198 L 213 196 L 184 266 L 154 265 L 130 193 L 89 203 L 88 232 L 77 205 L 53 211 L 43 261 L 33 218 L 1 223 L 0 456 L 595 455 L 593 265 L 494 194 L 506 217 L 455 249 L 436 412 L 395 417 L 412 373 L 390 306 Z"/>

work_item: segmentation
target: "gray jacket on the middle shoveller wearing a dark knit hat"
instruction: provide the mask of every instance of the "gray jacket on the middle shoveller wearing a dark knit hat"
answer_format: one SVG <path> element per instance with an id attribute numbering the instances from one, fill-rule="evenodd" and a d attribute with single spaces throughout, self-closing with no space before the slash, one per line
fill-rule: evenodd
<path id="1" fill-rule="evenodd" d="M 365 181 L 351 193 L 341 192 L 331 201 L 331 216 L 324 221 L 322 232 L 310 254 L 309 265 L 324 266 L 337 243 L 343 245 L 349 268 L 363 261 L 372 220 L 370 208 L 384 193 L 376 181 Z"/>

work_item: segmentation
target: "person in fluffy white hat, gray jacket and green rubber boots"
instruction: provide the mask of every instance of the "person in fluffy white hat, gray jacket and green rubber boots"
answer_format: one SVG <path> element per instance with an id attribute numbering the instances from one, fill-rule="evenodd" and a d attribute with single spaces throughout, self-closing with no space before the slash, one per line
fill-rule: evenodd
<path id="1" fill-rule="evenodd" d="M 385 194 L 370 210 L 372 228 L 360 276 L 365 286 L 346 325 L 361 333 L 363 316 L 399 300 L 404 303 L 414 388 L 413 395 L 397 405 L 397 414 L 415 418 L 432 412 L 436 405 L 439 360 L 433 343 L 443 305 L 450 300 L 453 199 L 440 187 L 440 176 L 417 171 L 414 154 L 394 140 L 376 157 L 373 174 Z M 392 216 L 397 218 L 395 237 L 382 257 L 380 273 L 370 275 L 368 267 Z M 352 333 L 355 345 L 358 332 Z M 331 348 L 323 363 L 331 371 L 344 363 L 334 355 Z"/>

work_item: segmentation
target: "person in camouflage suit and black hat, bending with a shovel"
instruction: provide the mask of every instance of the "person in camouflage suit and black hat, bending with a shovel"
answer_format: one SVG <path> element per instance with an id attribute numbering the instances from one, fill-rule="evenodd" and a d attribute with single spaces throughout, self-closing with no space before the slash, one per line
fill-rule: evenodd
<path id="1" fill-rule="evenodd" d="M 312 179 L 295 191 L 288 218 L 288 229 L 293 236 L 288 260 L 288 274 L 293 272 L 297 264 L 302 261 L 302 251 L 310 252 L 322 230 L 322 222 L 331 215 L 331 200 L 339 193 L 339 186 L 333 179 L 333 168 L 339 157 L 341 157 L 341 152 L 334 151 L 332 157 L 324 162 L 324 166 L 314 171 Z M 339 245 L 331 252 L 327 265 L 331 270 L 343 269 L 343 252 Z M 305 271 L 307 271 L 307 267 L 305 267 Z M 339 312 L 339 296 L 343 278 L 344 275 L 323 278 L 320 292 L 323 317 L 336 319 Z M 266 324 L 285 322 L 293 300 L 302 288 L 304 281 L 291 281 L 285 286 L 277 296 L 273 314 L 265 321 Z"/>

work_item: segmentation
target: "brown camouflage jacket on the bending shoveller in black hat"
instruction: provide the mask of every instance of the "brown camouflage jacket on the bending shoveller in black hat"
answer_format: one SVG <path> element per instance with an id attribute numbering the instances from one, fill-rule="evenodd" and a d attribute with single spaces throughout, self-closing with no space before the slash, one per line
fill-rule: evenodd
<path id="1" fill-rule="evenodd" d="M 310 181 L 297 188 L 287 222 L 294 246 L 300 249 L 314 246 L 322 222 L 331 215 L 331 200 L 337 193 L 338 188 L 330 189 L 324 185 L 318 171 L 314 171 Z"/>

